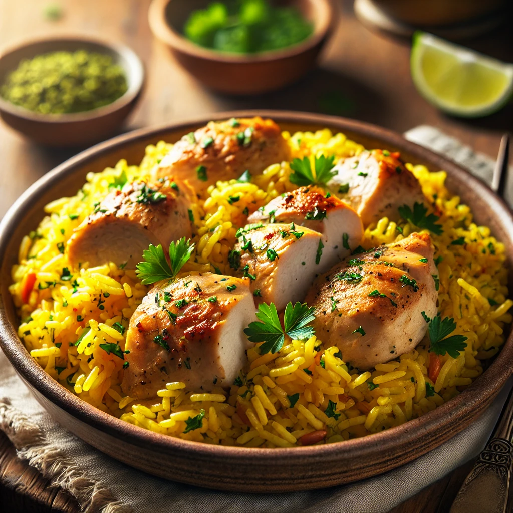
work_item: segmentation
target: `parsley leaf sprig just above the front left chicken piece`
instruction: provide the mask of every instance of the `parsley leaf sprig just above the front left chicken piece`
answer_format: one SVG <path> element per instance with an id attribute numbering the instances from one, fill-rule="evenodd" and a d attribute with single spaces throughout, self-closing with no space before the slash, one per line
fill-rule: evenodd
<path id="1" fill-rule="evenodd" d="M 189 260 L 190 255 L 194 251 L 194 244 L 190 240 L 186 241 L 185 237 L 178 242 L 172 242 L 169 245 L 169 260 L 171 266 L 166 260 L 162 245 L 157 247 L 150 244 L 148 249 L 143 252 L 144 262 L 139 262 L 136 267 L 137 277 L 143 285 L 149 285 L 159 280 L 169 278 L 174 280 L 176 274 Z"/>

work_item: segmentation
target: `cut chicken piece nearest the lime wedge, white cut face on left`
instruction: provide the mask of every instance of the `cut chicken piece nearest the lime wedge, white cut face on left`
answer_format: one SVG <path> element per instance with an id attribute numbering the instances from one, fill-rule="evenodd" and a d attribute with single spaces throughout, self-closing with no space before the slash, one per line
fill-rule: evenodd
<path id="1" fill-rule="evenodd" d="M 385 216 L 398 221 L 399 207 L 413 208 L 416 202 L 425 201 L 418 180 L 399 160 L 399 153 L 364 151 L 333 169 L 337 174 L 328 186 L 360 214 L 364 227 Z"/>

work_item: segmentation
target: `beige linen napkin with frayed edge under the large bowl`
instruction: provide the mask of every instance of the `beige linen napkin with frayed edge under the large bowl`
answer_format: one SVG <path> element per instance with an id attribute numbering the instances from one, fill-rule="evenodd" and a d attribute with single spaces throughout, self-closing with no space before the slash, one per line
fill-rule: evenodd
<path id="1" fill-rule="evenodd" d="M 491 177 L 492 159 L 471 152 L 436 128 L 417 127 L 405 135 L 467 165 L 484 180 Z M 165 481 L 119 463 L 57 424 L 2 352 L 0 429 L 19 458 L 39 469 L 52 486 L 68 490 L 87 513 L 386 513 L 483 450 L 510 388 L 508 382 L 482 417 L 459 435 L 407 465 L 350 485 L 286 494 L 213 491 Z"/>

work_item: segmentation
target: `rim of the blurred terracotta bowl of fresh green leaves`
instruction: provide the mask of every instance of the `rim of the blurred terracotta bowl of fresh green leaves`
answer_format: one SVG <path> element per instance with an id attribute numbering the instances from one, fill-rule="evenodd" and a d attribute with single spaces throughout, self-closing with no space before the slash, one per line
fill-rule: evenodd
<path id="1" fill-rule="evenodd" d="M 148 9 L 148 22 L 153 35 L 168 44 L 173 50 L 180 51 L 191 57 L 203 58 L 208 61 L 248 64 L 277 61 L 281 58 L 299 55 L 318 45 L 332 30 L 335 22 L 335 10 L 331 0 L 310 0 L 314 8 L 321 12 L 321 25 L 303 41 L 278 50 L 268 50 L 258 53 L 230 53 L 205 48 L 189 41 L 179 31 L 175 30 L 166 19 L 166 8 L 172 0 L 153 0 Z"/>

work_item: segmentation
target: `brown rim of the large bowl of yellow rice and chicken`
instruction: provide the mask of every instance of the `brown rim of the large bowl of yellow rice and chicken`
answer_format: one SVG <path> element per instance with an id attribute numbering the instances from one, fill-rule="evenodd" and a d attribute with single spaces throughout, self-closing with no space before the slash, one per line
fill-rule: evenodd
<path id="1" fill-rule="evenodd" d="M 65 161 L 61 165 L 49 171 L 42 176 L 37 182 L 31 185 L 15 203 L 10 207 L 4 219 L 0 222 L 0 265 L 5 257 L 6 247 L 10 236 L 15 230 L 18 221 L 24 218 L 25 210 L 33 203 L 41 193 L 45 193 L 52 186 L 60 181 L 61 176 L 73 174 L 77 166 L 84 165 L 90 161 L 94 161 L 98 156 L 109 153 L 116 147 L 126 146 L 131 142 L 140 139 L 148 139 L 149 137 L 164 137 L 165 133 L 170 131 L 190 131 L 195 127 L 206 124 L 211 120 L 230 119 L 231 117 L 250 117 L 260 115 L 269 117 L 280 123 L 299 123 L 306 126 L 325 126 L 337 128 L 340 131 L 348 131 L 361 134 L 367 137 L 375 137 L 384 145 L 390 145 L 400 148 L 401 151 L 410 152 L 417 156 L 420 160 L 425 160 L 429 166 L 437 166 L 438 169 L 450 169 L 450 174 L 455 176 L 457 180 L 465 181 L 467 187 L 476 188 L 480 196 L 487 203 L 494 203 L 494 212 L 497 216 L 504 218 L 504 222 L 513 228 L 513 212 L 509 209 L 502 198 L 492 191 L 484 182 L 470 174 L 461 166 L 452 162 L 445 157 L 434 153 L 427 148 L 419 146 L 415 143 L 407 141 L 404 137 L 392 130 L 378 127 L 360 121 L 350 120 L 338 116 L 329 116 L 323 114 L 314 114 L 308 112 L 292 112 L 281 110 L 244 110 L 244 111 L 228 111 L 212 113 L 208 116 L 197 116 L 187 121 L 169 123 L 156 127 L 149 127 L 134 130 L 127 134 L 122 134 L 112 139 L 97 144 L 87 150 L 78 153 Z M 155 141 L 156 142 L 156 141 Z M 148 142 L 148 144 L 152 144 Z M 513 233 L 513 229 L 511 230 Z M 513 241 L 513 235 L 511 236 Z M 513 255 L 510 255 L 513 260 Z M 9 300 L 8 300 L 9 301 Z M 421 418 L 412 419 L 404 424 L 392 427 L 374 433 L 363 438 L 350 439 L 344 442 L 336 442 L 324 445 L 313 445 L 306 447 L 290 447 L 290 448 L 248 448 L 248 447 L 228 447 L 214 446 L 201 442 L 193 442 L 161 435 L 153 431 L 133 426 L 127 422 L 123 422 L 108 413 L 99 410 L 85 401 L 75 396 L 61 384 L 53 380 L 42 367 L 40 367 L 31 357 L 17 336 L 17 329 L 9 322 L 4 306 L 4 298 L 0 293 L 0 348 L 3 349 L 7 358 L 22 377 L 31 387 L 35 388 L 44 397 L 49 399 L 54 405 L 69 413 L 75 419 L 82 421 L 89 426 L 100 430 L 107 435 L 115 438 L 123 437 L 128 442 L 138 447 L 150 446 L 152 450 L 162 450 L 164 453 L 173 451 L 186 453 L 193 451 L 195 455 L 200 457 L 216 457 L 235 460 L 238 458 L 246 458 L 251 456 L 254 462 L 266 464 L 275 458 L 283 461 L 294 463 L 304 458 L 313 461 L 314 458 L 323 456 L 325 458 L 337 457 L 364 457 L 366 454 L 372 453 L 377 446 L 404 446 L 411 444 L 419 439 L 419 433 L 427 435 L 427 433 L 436 433 L 441 421 L 448 421 L 450 418 L 461 416 L 468 418 L 472 411 L 483 408 L 483 394 L 487 399 L 493 398 L 500 388 L 504 385 L 507 378 L 513 371 L 513 332 L 509 333 L 508 339 L 504 343 L 501 351 L 495 360 L 486 369 L 483 374 L 476 379 L 472 385 L 464 390 L 459 396 L 447 401 L 443 405 L 437 407 Z M 507 372 L 509 369 L 509 372 Z M 481 405 L 481 408 L 480 408 Z M 463 426 L 465 427 L 465 426 Z M 463 428 L 462 428 L 463 429 Z M 456 434 L 456 433 L 455 433 Z"/>

